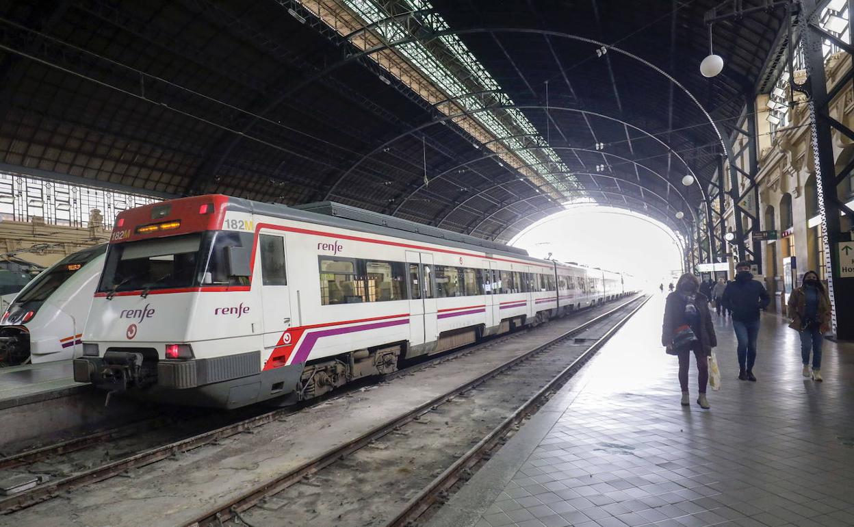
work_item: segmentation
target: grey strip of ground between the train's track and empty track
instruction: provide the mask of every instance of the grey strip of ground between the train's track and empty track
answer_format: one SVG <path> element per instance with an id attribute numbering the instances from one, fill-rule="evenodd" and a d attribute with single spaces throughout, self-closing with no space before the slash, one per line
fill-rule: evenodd
<path id="1" fill-rule="evenodd" d="M 112 478 L 61 495 L 2 517 L 0 524 L 118 527 L 190 522 L 201 509 L 233 499 L 613 308 L 613 304 L 606 304 L 511 339 L 488 343 L 476 353 L 309 407 L 284 422 L 261 426 L 254 433 L 196 448 L 132 471 L 129 477 Z"/>

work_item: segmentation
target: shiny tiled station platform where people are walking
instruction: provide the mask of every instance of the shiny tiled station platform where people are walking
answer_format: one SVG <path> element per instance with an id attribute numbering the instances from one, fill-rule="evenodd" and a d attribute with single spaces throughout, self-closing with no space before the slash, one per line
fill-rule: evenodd
<path id="1" fill-rule="evenodd" d="M 660 345 L 664 295 L 496 452 L 431 527 L 854 525 L 854 345 L 824 342 L 823 383 L 798 335 L 763 314 L 757 382 L 740 381 L 729 319 L 715 319 L 722 389 L 680 405 Z"/>

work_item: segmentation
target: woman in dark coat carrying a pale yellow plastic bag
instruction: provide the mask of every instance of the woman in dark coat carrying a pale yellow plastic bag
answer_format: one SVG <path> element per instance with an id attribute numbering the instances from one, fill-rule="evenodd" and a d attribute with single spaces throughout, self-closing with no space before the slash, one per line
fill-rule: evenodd
<path id="1" fill-rule="evenodd" d="M 707 409 L 710 407 L 705 396 L 705 387 L 709 384 L 709 355 L 711 348 L 717 346 L 717 337 L 711 324 L 709 301 L 698 290 L 699 280 L 693 274 L 686 272 L 679 277 L 676 291 L 667 296 L 661 343 L 667 348 L 668 354 L 679 358 L 683 407 L 691 404 L 688 395 L 688 363 L 693 353 L 697 360 L 697 404 Z"/>

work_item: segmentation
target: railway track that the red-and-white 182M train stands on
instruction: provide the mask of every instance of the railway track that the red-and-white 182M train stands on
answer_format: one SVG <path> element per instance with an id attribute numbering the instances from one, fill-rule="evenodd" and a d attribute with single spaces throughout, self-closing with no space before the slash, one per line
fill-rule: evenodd
<path id="1" fill-rule="evenodd" d="M 616 307 L 605 313 L 605 315 L 614 313 L 631 302 L 636 301 L 626 302 L 620 307 Z M 585 322 L 572 331 L 578 331 L 579 328 L 586 327 L 605 315 L 600 315 L 591 321 Z M 412 372 L 417 372 L 424 368 L 435 367 L 465 355 L 475 354 L 484 348 L 489 348 L 498 343 L 505 343 L 527 332 L 520 331 L 490 339 L 450 354 L 444 354 L 419 362 L 418 364 L 384 376 L 383 382 L 412 374 Z M 196 425 L 188 425 L 184 422 L 182 424 L 184 430 L 183 436 L 179 433 L 178 439 L 176 439 L 172 427 L 178 421 L 184 420 L 185 416 L 179 418 L 157 417 L 154 419 L 144 419 L 131 425 L 123 425 L 110 430 L 101 430 L 87 436 L 11 455 L 0 460 L 0 470 L 22 477 L 34 477 L 36 484 L 32 488 L 23 489 L 15 494 L 0 497 L 0 513 L 9 514 L 20 511 L 21 509 L 50 500 L 56 495 L 61 495 L 73 489 L 79 489 L 91 483 L 97 483 L 110 477 L 126 474 L 128 471 L 132 471 L 132 469 L 147 466 L 174 455 L 188 452 L 194 448 L 218 442 L 242 432 L 253 430 L 258 426 L 287 419 L 291 414 L 300 412 L 307 407 L 327 401 L 335 401 L 340 397 L 348 396 L 354 389 L 359 389 L 362 385 L 364 384 L 355 384 L 350 389 L 338 391 L 329 397 L 321 397 L 318 400 L 310 401 L 299 407 L 278 408 L 261 413 L 258 413 L 259 410 L 255 409 L 254 412 L 252 410 L 238 412 L 237 416 L 231 413 L 231 419 L 223 418 L 222 415 L 219 416 L 219 419 L 213 420 L 202 417 L 198 419 L 198 424 Z M 250 413 L 249 417 L 245 417 L 247 413 Z M 172 430 L 172 432 L 164 434 L 167 435 L 165 441 L 163 437 L 158 441 L 157 436 L 155 436 L 157 430 Z M 145 437 L 139 437 L 144 434 L 151 434 L 152 436 L 148 441 L 145 441 Z M 133 439 L 134 444 L 137 446 L 136 448 L 126 446 L 122 451 L 122 448 L 115 446 L 115 442 L 121 442 L 128 438 Z M 142 445 L 141 448 L 140 445 Z M 94 454 L 89 454 L 88 462 L 85 461 L 87 449 L 95 450 Z M 112 449 L 113 452 L 108 452 L 109 449 Z M 117 450 L 119 451 L 118 454 L 116 454 Z M 76 463 L 64 459 L 69 454 L 75 453 L 79 458 Z M 64 466 L 66 468 L 57 470 L 56 466 Z"/>

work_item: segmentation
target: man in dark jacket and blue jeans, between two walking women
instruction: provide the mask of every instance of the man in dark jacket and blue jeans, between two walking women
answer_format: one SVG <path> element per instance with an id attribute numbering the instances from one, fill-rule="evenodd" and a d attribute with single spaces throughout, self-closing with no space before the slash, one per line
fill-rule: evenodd
<path id="1" fill-rule="evenodd" d="M 753 364 L 756 362 L 759 310 L 768 307 L 771 298 L 765 286 L 753 279 L 748 262 L 736 264 L 735 280 L 723 290 L 722 301 L 732 313 L 735 338 L 739 341 L 739 378 L 755 381 Z"/>

